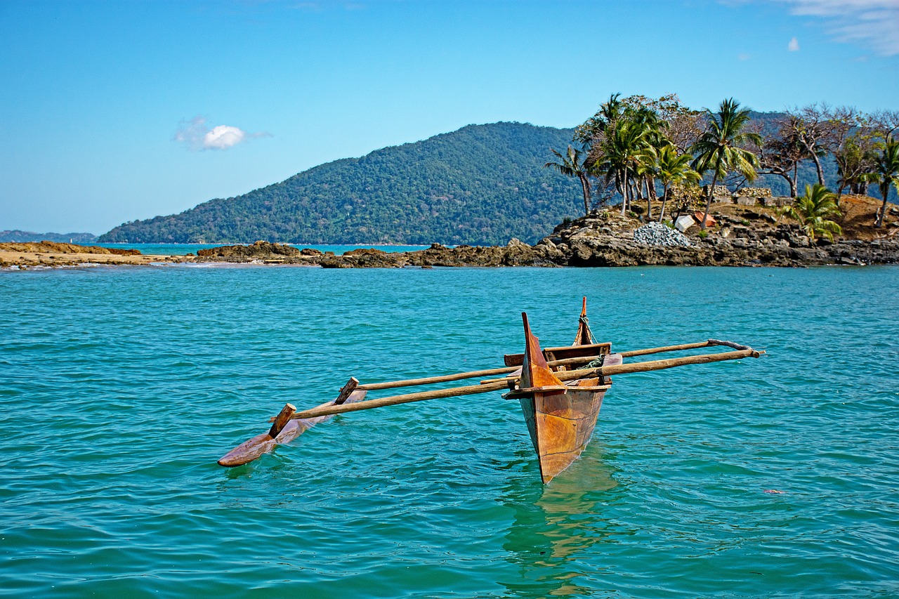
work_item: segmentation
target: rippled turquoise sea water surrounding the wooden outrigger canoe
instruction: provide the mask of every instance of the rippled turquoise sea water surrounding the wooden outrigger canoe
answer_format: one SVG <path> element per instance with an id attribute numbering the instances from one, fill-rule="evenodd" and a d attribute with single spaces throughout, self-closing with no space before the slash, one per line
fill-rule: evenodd
<path id="1" fill-rule="evenodd" d="M 0 273 L 0 595 L 897 596 L 897 289 L 896 267 Z M 350 375 L 498 366 L 522 310 L 570 343 L 582 295 L 619 351 L 769 355 L 617 377 L 546 487 L 499 393 L 215 463 Z"/>

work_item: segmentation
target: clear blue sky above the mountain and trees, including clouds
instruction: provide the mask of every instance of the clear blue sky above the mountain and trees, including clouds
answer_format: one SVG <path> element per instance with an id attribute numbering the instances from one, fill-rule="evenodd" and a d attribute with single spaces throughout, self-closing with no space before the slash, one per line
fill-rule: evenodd
<path id="1" fill-rule="evenodd" d="M 899 0 L 3 0 L 0 57 L 0 229 L 99 234 L 616 92 L 899 109 Z"/>

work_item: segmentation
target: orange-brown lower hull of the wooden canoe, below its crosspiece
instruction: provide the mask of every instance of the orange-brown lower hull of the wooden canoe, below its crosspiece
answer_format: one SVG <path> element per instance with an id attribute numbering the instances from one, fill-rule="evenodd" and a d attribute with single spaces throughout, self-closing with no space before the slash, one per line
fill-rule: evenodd
<path id="1" fill-rule="evenodd" d="M 572 386 L 565 393 L 519 398 L 544 483 L 571 466 L 590 442 L 608 389 L 595 382 L 579 380 L 580 387 Z"/>

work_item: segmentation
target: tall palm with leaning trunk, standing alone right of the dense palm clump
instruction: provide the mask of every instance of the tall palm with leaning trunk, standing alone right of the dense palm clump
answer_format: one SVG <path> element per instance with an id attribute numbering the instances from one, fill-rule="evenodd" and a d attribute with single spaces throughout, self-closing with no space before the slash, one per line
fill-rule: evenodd
<path id="1" fill-rule="evenodd" d="M 759 165 L 759 159 L 751 151 L 740 146 L 746 143 L 761 146 L 761 135 L 744 131 L 749 122 L 749 111 L 740 110 L 739 106 L 739 102 L 730 98 L 721 103 L 717 113 L 707 111 L 706 130 L 690 148 L 696 156 L 693 159 L 693 168 L 699 173 L 712 171 L 712 184 L 708 188 L 706 199 L 706 213 L 699 223 L 701 228 L 706 228 L 708 208 L 712 204 L 712 195 L 715 193 L 718 179 L 723 179 L 726 174 L 733 171 L 743 174 L 747 181 L 755 178 L 755 168 Z"/>

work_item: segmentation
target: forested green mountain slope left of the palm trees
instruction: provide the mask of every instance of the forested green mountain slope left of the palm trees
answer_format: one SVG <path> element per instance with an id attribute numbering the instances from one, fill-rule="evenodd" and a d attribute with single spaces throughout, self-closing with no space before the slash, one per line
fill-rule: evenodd
<path id="1" fill-rule="evenodd" d="M 236 198 L 136 220 L 100 242 L 534 243 L 583 212 L 580 183 L 543 165 L 573 130 L 469 125 L 310 168 Z"/>

